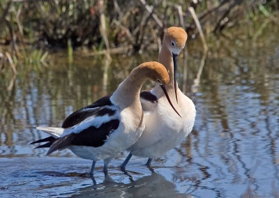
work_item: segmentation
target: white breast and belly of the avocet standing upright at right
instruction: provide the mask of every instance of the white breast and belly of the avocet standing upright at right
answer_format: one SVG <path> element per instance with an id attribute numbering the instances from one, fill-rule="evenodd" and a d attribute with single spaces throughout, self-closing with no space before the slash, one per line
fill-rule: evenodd
<path id="1" fill-rule="evenodd" d="M 146 128 L 140 139 L 130 146 L 128 151 L 141 157 L 159 158 L 181 144 L 193 129 L 195 105 L 192 100 L 179 92 L 179 106 L 175 107 L 182 119 L 170 107 L 165 97 L 159 98 L 152 112 L 144 112 Z"/>

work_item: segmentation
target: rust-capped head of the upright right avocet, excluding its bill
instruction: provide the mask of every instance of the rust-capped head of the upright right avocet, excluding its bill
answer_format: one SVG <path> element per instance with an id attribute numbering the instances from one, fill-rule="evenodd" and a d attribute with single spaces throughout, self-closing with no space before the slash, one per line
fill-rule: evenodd
<path id="1" fill-rule="evenodd" d="M 163 43 L 172 54 L 179 54 L 183 50 L 187 40 L 187 33 L 181 27 L 171 26 L 167 29 Z"/>

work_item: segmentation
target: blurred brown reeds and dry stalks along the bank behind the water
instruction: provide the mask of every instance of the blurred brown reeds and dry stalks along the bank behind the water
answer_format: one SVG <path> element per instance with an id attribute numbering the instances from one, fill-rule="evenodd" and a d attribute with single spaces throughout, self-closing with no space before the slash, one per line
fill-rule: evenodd
<path id="1" fill-rule="evenodd" d="M 44 65 L 62 49 L 69 60 L 80 49 L 89 55 L 158 50 L 169 26 L 202 38 L 204 50 L 209 35 L 227 36 L 224 31 L 254 22 L 257 31 L 247 36 L 256 39 L 267 23 L 278 24 L 278 10 L 277 0 L 1 0 L 0 73 Z"/>

